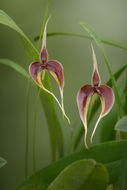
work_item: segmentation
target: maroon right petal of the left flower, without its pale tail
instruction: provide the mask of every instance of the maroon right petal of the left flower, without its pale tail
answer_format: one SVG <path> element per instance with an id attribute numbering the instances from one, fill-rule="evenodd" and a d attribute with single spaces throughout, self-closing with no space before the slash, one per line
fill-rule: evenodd
<path id="1" fill-rule="evenodd" d="M 55 60 L 48 61 L 47 70 L 52 74 L 52 76 L 57 81 L 61 89 L 64 87 L 64 75 L 63 66 Z"/>

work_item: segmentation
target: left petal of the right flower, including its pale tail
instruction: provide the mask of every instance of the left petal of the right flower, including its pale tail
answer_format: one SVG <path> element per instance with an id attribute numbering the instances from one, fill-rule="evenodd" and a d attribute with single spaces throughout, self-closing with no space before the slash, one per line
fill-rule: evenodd
<path id="1" fill-rule="evenodd" d="M 86 148 L 88 148 L 87 143 L 86 143 L 87 112 L 88 112 L 89 103 L 93 94 L 94 94 L 93 87 L 91 85 L 85 85 L 80 89 L 77 95 L 78 109 L 79 109 L 81 120 L 85 128 L 84 142 L 85 142 Z"/>

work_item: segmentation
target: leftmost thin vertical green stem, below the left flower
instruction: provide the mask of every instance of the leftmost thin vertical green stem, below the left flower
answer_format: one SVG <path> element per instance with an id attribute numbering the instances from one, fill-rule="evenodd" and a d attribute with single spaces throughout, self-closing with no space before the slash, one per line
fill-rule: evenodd
<path id="1" fill-rule="evenodd" d="M 29 96 L 30 96 L 30 79 L 28 79 L 26 91 L 26 149 L 25 149 L 25 178 L 28 177 L 28 154 L 29 154 Z"/>

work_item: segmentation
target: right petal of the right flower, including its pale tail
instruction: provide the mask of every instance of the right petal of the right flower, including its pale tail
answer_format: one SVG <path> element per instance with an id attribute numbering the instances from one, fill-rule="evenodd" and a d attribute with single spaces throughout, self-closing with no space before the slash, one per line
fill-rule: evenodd
<path id="1" fill-rule="evenodd" d="M 109 111 L 112 109 L 112 106 L 113 106 L 114 100 L 115 100 L 113 90 L 106 85 L 101 85 L 98 88 L 98 95 L 100 96 L 100 100 L 101 100 L 101 104 L 102 104 L 102 111 L 95 124 L 94 130 L 92 132 L 91 142 L 93 140 L 93 136 L 94 136 L 94 133 L 96 131 L 99 121 L 101 120 L 102 117 L 104 117 L 105 115 L 107 115 L 109 113 Z"/>

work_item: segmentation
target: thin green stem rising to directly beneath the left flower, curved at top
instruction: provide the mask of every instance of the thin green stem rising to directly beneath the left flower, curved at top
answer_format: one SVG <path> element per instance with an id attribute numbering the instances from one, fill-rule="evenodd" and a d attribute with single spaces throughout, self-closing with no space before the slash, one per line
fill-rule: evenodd
<path id="1" fill-rule="evenodd" d="M 36 120 L 37 120 L 37 109 L 40 100 L 41 88 L 38 90 L 37 100 L 34 110 L 34 127 L 33 127 L 33 173 L 36 173 Z"/>

